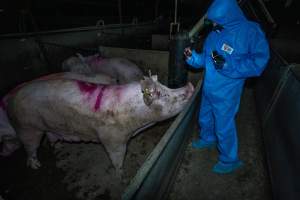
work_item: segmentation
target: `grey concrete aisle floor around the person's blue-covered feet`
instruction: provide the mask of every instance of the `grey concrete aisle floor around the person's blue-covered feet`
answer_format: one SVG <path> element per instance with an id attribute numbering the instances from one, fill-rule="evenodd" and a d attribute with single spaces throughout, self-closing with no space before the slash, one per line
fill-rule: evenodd
<path id="1" fill-rule="evenodd" d="M 266 171 L 262 138 L 255 113 L 253 90 L 246 88 L 237 117 L 239 155 L 244 167 L 233 174 L 217 175 L 216 149 L 186 149 L 169 200 L 268 200 L 270 183 Z M 194 128 L 193 138 L 197 136 Z M 191 142 L 191 141 L 190 141 Z"/>

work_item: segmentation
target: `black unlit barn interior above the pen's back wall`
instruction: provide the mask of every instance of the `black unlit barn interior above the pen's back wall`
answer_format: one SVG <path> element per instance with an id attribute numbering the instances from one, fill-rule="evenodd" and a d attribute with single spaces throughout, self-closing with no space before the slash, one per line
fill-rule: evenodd
<path id="1" fill-rule="evenodd" d="M 105 24 L 120 23 L 119 0 L 2 0 L 0 33 L 32 32 L 94 26 L 100 19 Z M 139 22 L 157 17 L 174 18 L 174 0 L 122 0 L 122 23 L 134 18 Z M 210 0 L 178 0 L 178 19 L 190 27 L 207 9 Z M 265 1 L 280 27 L 300 26 L 299 1 L 285 7 L 284 0 Z M 157 6 L 158 5 L 158 6 Z"/>

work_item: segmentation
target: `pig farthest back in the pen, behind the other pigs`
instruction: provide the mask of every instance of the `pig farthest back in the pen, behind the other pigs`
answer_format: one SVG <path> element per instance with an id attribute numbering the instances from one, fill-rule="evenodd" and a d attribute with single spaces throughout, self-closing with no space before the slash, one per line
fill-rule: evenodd
<path id="1" fill-rule="evenodd" d="M 143 73 L 137 65 L 125 58 L 102 58 L 98 54 L 83 57 L 70 57 L 62 64 L 64 71 L 84 74 L 106 74 L 115 78 L 119 84 L 140 81 Z"/>

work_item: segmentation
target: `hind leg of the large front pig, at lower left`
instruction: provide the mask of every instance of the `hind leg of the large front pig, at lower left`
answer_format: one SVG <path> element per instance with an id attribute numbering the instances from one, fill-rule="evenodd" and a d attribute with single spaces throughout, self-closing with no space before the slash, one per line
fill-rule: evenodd
<path id="1" fill-rule="evenodd" d="M 37 158 L 37 148 L 40 145 L 43 132 L 36 129 L 22 129 L 18 133 L 27 152 L 27 166 L 38 169 L 41 163 Z"/>

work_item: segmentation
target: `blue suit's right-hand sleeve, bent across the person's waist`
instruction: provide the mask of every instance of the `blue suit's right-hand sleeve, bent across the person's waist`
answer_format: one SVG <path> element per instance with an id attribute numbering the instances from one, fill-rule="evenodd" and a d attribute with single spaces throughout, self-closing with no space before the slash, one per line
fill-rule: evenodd
<path id="1" fill-rule="evenodd" d="M 226 55 L 224 68 L 219 70 L 221 74 L 230 78 L 261 75 L 270 57 L 269 45 L 264 33 L 260 30 L 249 39 L 249 53 L 235 57 Z"/>

